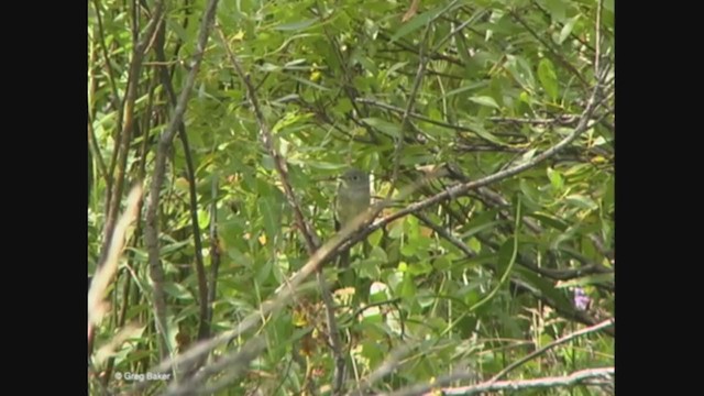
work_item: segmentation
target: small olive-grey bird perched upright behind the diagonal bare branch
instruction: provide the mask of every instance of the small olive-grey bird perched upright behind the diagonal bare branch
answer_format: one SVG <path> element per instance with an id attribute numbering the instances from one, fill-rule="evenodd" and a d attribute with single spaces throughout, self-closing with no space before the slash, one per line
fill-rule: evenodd
<path id="1" fill-rule="evenodd" d="M 351 168 L 340 177 L 334 208 L 334 229 L 340 231 L 350 221 L 364 212 L 371 205 L 370 175 Z M 350 265 L 350 251 L 340 253 L 340 267 Z"/>

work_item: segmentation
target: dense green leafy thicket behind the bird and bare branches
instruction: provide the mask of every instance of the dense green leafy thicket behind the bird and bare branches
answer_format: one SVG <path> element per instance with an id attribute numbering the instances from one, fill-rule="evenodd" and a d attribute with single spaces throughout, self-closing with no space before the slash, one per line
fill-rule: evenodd
<path id="1" fill-rule="evenodd" d="M 91 394 L 134 391 L 116 373 L 152 372 L 246 318 L 256 326 L 198 364 L 262 348 L 189 392 L 381 393 L 453 374 L 436 386 L 468 394 L 521 359 L 501 378 L 517 394 L 613 392 L 520 387 L 614 364 L 608 326 L 528 356 L 614 315 L 613 0 L 91 0 L 87 59 L 89 274 L 144 187 L 89 334 Z M 314 275 L 262 310 L 334 235 L 348 166 L 394 198 L 378 221 L 521 164 L 370 229 L 352 249 L 355 287 L 323 266 L 339 351 Z M 196 386 L 189 370 L 172 374 Z"/>

